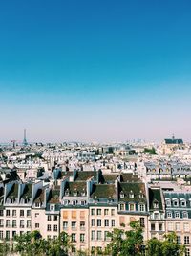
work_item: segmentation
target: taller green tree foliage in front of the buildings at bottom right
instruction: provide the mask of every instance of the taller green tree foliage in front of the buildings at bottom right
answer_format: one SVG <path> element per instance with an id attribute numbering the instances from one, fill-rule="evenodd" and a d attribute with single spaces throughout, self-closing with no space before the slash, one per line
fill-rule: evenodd
<path id="1" fill-rule="evenodd" d="M 130 223 L 131 229 L 114 229 L 109 233 L 111 242 L 106 247 L 108 255 L 112 256 L 182 256 L 185 247 L 177 244 L 177 236 L 174 232 L 164 235 L 164 240 L 152 238 L 144 244 L 143 228 L 139 221 Z"/>

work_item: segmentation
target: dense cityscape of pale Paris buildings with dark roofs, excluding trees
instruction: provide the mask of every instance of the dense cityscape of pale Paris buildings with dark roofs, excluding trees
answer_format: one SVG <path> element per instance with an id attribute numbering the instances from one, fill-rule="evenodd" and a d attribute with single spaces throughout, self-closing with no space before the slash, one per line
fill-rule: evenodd
<path id="1" fill-rule="evenodd" d="M 191 145 L 175 136 L 31 144 L 25 130 L 22 143 L 1 145 L 0 180 L 0 239 L 12 247 L 32 231 L 49 241 L 64 232 L 70 255 L 102 255 L 109 233 L 139 221 L 144 244 L 174 231 L 190 255 Z"/>

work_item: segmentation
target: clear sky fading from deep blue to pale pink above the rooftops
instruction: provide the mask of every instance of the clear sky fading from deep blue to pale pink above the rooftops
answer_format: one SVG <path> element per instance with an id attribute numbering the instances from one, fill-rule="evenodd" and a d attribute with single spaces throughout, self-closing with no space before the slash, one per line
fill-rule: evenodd
<path id="1" fill-rule="evenodd" d="M 0 141 L 190 140 L 191 1 L 1 1 Z"/>

